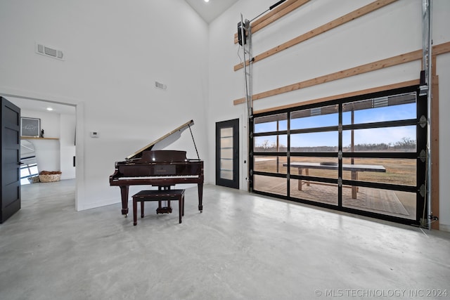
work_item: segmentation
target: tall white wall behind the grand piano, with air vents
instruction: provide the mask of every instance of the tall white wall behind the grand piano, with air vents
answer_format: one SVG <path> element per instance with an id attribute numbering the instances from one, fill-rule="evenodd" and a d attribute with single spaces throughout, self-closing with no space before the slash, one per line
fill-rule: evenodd
<path id="1" fill-rule="evenodd" d="M 77 209 L 120 202 L 115 162 L 190 119 L 207 161 L 208 27 L 185 1 L 4 0 L 0 27 L 0 93 L 77 105 Z M 196 157 L 189 133 L 173 149 Z"/>

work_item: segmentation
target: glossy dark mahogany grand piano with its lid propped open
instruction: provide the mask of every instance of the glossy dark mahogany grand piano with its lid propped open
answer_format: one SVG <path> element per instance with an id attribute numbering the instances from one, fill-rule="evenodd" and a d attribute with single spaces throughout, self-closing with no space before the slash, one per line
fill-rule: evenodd
<path id="1" fill-rule="evenodd" d="M 115 172 L 110 176 L 110 185 L 120 187 L 124 216 L 128 214 L 130 185 L 153 185 L 158 186 L 158 189 L 170 189 L 172 185 L 179 183 L 197 183 L 198 210 L 203 211 L 203 160 L 198 156 L 195 146 L 191 131 L 193 124 L 193 120 L 186 122 L 129 155 L 123 162 L 115 162 Z M 186 129 L 191 131 L 197 159 L 187 159 L 186 151 L 161 150 L 176 141 Z"/>

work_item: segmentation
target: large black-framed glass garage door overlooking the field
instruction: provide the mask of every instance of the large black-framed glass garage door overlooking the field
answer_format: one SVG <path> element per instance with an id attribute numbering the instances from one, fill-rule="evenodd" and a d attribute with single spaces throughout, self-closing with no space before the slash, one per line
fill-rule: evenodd
<path id="1" fill-rule="evenodd" d="M 399 223 L 424 211 L 426 97 L 416 86 L 255 115 L 250 189 Z M 420 116 L 420 117 L 418 117 Z"/>

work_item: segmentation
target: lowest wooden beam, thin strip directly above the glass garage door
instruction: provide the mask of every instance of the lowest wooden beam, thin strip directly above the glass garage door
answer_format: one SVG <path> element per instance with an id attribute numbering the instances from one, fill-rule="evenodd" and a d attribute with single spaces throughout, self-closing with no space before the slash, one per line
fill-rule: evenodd
<path id="1" fill-rule="evenodd" d="M 366 95 L 368 93 L 377 93 L 380 91 L 387 91 L 390 89 L 400 89 L 400 88 L 404 88 L 406 86 L 414 86 L 414 85 L 418 85 L 420 83 L 420 79 L 413 79 L 413 80 L 409 80 L 409 81 L 403 81 L 403 82 L 399 82 L 397 84 L 387 84 L 385 86 L 377 86 L 375 88 L 371 88 L 371 89 L 364 89 L 364 90 L 360 90 L 360 91 L 352 91 L 349 93 L 341 93 L 339 95 L 333 95 L 333 96 L 328 96 L 328 97 L 323 97 L 323 98 L 316 98 L 313 100 L 307 100 L 307 101 L 303 101 L 300 103 L 291 103 L 288 105 L 282 105 L 282 106 L 277 106 L 277 107 L 271 107 L 271 108 L 267 108 L 265 110 L 255 110 L 255 114 L 260 114 L 262 112 L 273 112 L 275 110 L 284 110 L 287 108 L 293 108 L 293 107 L 301 107 L 303 105 L 309 105 L 309 104 L 315 104 L 315 103 L 323 103 L 325 101 L 330 101 L 330 100 L 338 100 L 338 99 L 342 99 L 342 98 L 348 98 L 348 97 L 354 97 L 354 96 L 361 96 L 361 95 Z"/>

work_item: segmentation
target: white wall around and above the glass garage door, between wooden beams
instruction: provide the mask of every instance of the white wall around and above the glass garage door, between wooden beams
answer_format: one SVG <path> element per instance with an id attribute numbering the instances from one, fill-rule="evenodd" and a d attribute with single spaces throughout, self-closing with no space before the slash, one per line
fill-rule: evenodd
<path id="1" fill-rule="evenodd" d="M 210 25 L 210 99 L 207 107 L 207 122 L 223 121 L 240 117 L 241 131 L 245 127 L 245 105 L 233 105 L 233 100 L 245 96 L 243 70 L 233 71 L 233 66 L 240 63 L 238 45 L 233 44 L 240 13 L 244 19 L 255 18 L 266 11 L 276 1 L 247 0 L 238 1 L 226 13 L 214 20 Z M 339 18 L 371 0 L 321 0 L 310 1 L 295 12 L 286 15 L 252 36 L 253 54 L 263 53 L 285 41 L 313 30 L 331 20 Z M 376 60 L 390 58 L 399 54 L 416 51 L 422 48 L 422 11 L 420 0 L 399 0 L 380 8 L 361 18 L 330 30 L 301 44 L 297 44 L 274 56 L 261 60 L 253 66 L 253 93 L 261 93 L 299 81 L 313 79 L 321 75 L 338 72 Z M 434 45 L 450 41 L 450 1 L 433 0 L 433 43 Z M 239 51 L 242 57 L 242 51 Z M 450 158 L 445 155 L 449 145 L 450 112 L 446 101 L 450 96 L 450 54 L 439 56 L 437 60 L 439 74 L 439 126 L 440 130 L 440 174 L 439 221 L 441 228 L 450 230 Z M 290 103 L 300 103 L 325 96 L 359 91 L 372 87 L 395 84 L 401 81 L 418 79 L 420 62 L 406 63 L 383 70 L 361 74 L 346 79 L 330 81 L 326 84 L 311 86 L 306 89 L 291 91 L 278 96 L 255 100 L 254 109 L 262 110 Z M 214 128 L 210 126 L 208 134 L 214 136 Z M 241 138 L 242 161 L 240 186 L 247 189 L 247 140 Z M 214 153 L 214 145 L 208 148 Z M 209 165 L 210 171 L 214 168 Z"/>

